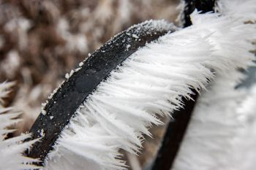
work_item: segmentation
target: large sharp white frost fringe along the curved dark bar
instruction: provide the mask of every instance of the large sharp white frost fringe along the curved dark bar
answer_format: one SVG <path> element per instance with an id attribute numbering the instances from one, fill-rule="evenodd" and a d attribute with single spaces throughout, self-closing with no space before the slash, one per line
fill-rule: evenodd
<path id="1" fill-rule="evenodd" d="M 251 64 L 254 25 L 197 12 L 192 20 L 193 26 L 142 47 L 110 73 L 62 131 L 46 169 L 124 169 L 118 150 L 137 154 L 143 134 L 151 136 L 148 128 L 162 124 L 159 116 L 181 108 L 189 88 L 204 89 L 214 72 Z"/>

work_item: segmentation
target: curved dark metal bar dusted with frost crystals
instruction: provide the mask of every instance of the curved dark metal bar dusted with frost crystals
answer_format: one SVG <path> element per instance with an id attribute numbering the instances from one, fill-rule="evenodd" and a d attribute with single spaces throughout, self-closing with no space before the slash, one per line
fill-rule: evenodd
<path id="1" fill-rule="evenodd" d="M 158 39 L 168 31 L 175 31 L 174 29 L 175 27 L 169 26 L 159 30 L 154 23 L 148 21 L 121 32 L 96 50 L 83 62 L 78 72 L 74 72 L 48 100 L 45 111 L 40 113 L 30 130 L 33 134 L 31 139 L 41 137 L 41 141 L 27 150 L 25 155 L 39 158 L 42 162 L 38 165 L 43 166 L 45 157 L 53 150 L 59 134 L 97 85 L 139 47 Z"/>

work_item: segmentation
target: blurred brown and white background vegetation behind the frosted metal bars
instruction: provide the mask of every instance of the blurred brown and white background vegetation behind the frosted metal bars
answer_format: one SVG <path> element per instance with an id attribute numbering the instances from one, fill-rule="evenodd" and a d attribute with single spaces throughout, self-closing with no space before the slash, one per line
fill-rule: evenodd
<path id="1" fill-rule="evenodd" d="M 78 66 L 111 36 L 150 19 L 176 22 L 178 0 L 0 0 L 0 82 L 15 81 L 6 107 L 23 112 L 14 135 L 29 131 L 41 103 Z M 144 143 L 145 163 L 157 152 L 156 140 Z M 137 158 L 125 154 L 138 166 Z M 137 164 L 136 164 L 137 163 Z"/>

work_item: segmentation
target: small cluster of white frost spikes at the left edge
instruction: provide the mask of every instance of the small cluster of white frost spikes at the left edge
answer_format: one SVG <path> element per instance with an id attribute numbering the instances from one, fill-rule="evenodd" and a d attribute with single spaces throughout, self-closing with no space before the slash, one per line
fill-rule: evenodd
<path id="1" fill-rule="evenodd" d="M 20 112 L 15 111 L 13 108 L 4 108 L 1 106 L 3 98 L 9 93 L 9 89 L 13 85 L 12 82 L 0 83 L 0 169 L 5 170 L 22 170 L 34 169 L 35 166 L 29 164 L 36 160 L 27 158 L 22 155 L 27 148 L 35 141 L 22 142 L 29 137 L 29 134 L 13 137 L 4 140 L 6 134 L 15 130 L 9 130 L 7 127 L 18 123 L 20 119 L 17 117 Z"/>

